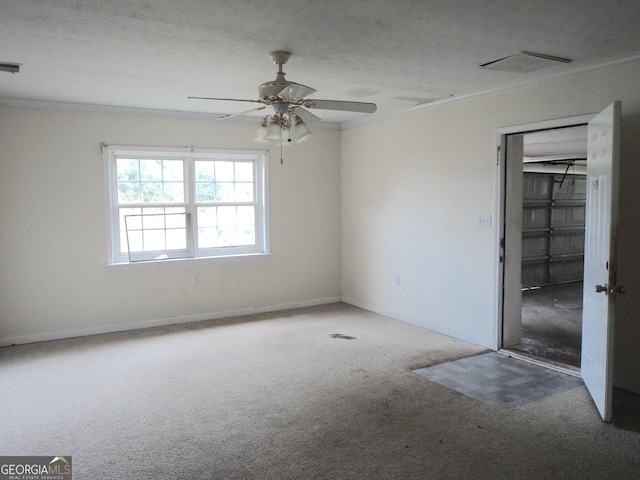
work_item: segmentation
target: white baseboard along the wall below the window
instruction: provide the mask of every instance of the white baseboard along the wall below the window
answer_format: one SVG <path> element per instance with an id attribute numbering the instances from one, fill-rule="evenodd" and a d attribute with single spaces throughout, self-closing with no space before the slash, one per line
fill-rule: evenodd
<path id="1" fill-rule="evenodd" d="M 313 307 L 328 303 L 340 302 L 340 297 L 327 297 L 314 300 L 304 300 L 301 302 L 282 303 L 278 305 L 264 305 L 260 307 L 241 308 L 238 310 L 227 310 L 224 312 L 197 313 L 180 317 L 159 318 L 156 320 L 145 320 L 118 325 L 102 325 L 98 327 L 80 328 L 77 330 L 63 330 L 59 332 L 35 333 L 32 335 L 22 335 L 18 337 L 8 337 L 0 339 L 0 347 L 11 345 L 22 345 L 26 343 L 46 342 L 50 340 L 62 340 L 74 337 L 86 337 L 89 335 L 100 335 L 103 333 L 126 332 L 129 330 L 139 330 L 142 328 L 166 327 L 168 325 L 178 325 L 181 323 L 202 322 L 205 320 L 220 320 L 222 318 L 240 317 L 243 315 L 253 315 L 256 313 L 277 312 L 279 310 L 292 310 L 294 308 Z"/>

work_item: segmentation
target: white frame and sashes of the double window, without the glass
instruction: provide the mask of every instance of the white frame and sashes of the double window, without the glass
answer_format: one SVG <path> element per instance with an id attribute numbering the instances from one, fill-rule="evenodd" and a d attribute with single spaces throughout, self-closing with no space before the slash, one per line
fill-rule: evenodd
<path id="1" fill-rule="evenodd" d="M 116 161 L 118 157 L 144 159 L 176 159 L 184 163 L 185 202 L 175 207 L 185 208 L 187 225 L 187 248 L 179 251 L 151 252 L 148 256 L 138 255 L 130 261 L 128 253 L 120 248 L 120 216 L 118 203 L 118 182 Z M 268 152 L 262 150 L 220 150 L 193 148 L 156 148 L 140 146 L 103 146 L 105 168 L 105 192 L 107 200 L 107 264 L 138 265 L 148 263 L 193 261 L 204 259 L 241 259 L 269 254 L 268 205 L 267 205 L 267 167 Z M 255 244 L 244 246 L 198 247 L 198 204 L 195 198 L 195 161 L 196 160 L 248 161 L 254 164 L 254 202 L 255 206 Z M 173 205 L 172 205 L 173 206 Z M 154 204 L 145 204 L 145 208 L 155 208 Z"/>

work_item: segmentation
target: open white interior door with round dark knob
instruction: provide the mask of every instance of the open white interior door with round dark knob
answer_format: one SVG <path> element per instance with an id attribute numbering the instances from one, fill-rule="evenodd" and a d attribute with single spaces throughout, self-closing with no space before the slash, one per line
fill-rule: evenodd
<path id="1" fill-rule="evenodd" d="M 588 133 L 581 373 L 605 421 L 613 395 L 620 119 L 621 104 L 614 102 L 589 122 Z"/>

